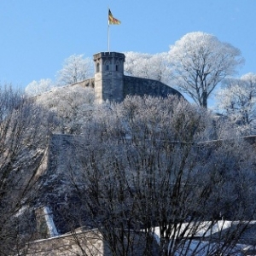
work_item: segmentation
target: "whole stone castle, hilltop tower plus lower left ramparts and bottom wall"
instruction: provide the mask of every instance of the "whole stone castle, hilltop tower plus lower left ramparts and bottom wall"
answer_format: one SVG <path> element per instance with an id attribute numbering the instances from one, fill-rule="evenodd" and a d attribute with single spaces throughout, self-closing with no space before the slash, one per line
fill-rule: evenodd
<path id="1" fill-rule="evenodd" d="M 94 89 L 95 102 L 123 102 L 125 96 L 160 96 L 176 95 L 183 97 L 177 90 L 154 79 L 142 79 L 124 74 L 125 55 L 118 52 L 100 52 L 93 55 L 95 62 L 95 76 L 76 84 L 81 87 L 91 87 Z M 67 201 L 77 201 L 73 195 L 72 186 L 68 186 L 69 168 L 75 167 L 79 173 L 80 146 L 84 147 L 81 137 L 64 134 L 53 134 L 50 137 L 49 147 L 42 165 L 40 166 L 41 195 L 38 197 L 35 210 L 35 218 L 31 222 L 36 227 L 36 237 L 39 240 L 27 244 L 26 253 L 45 256 L 48 253 L 55 255 L 71 255 L 84 251 L 93 255 L 112 255 L 108 244 L 102 239 L 101 229 L 87 230 L 80 223 L 75 223 L 74 227 L 79 227 L 71 232 L 67 219 L 63 217 L 62 208 Z M 83 150 L 82 150 L 83 151 Z M 85 151 L 82 152 L 83 159 Z M 85 158 L 86 159 L 86 158 Z M 76 163 L 76 164 L 74 164 Z M 39 174 L 38 174 L 39 175 Z M 77 211 L 78 208 L 70 211 Z M 33 214 L 33 213 L 31 213 Z M 73 212 L 69 212 L 73 214 Z M 83 215 L 79 219 L 81 223 L 86 223 Z M 78 240 L 74 240 L 74 234 Z M 130 247 L 134 250 L 134 255 L 143 255 L 145 242 L 142 240 L 143 233 L 131 230 Z M 43 238 L 43 239 L 42 239 Z M 125 238 L 126 239 L 126 238 Z M 131 242 L 132 241 L 132 242 Z M 79 244 L 82 246 L 79 247 Z M 153 241 L 154 250 L 158 250 L 156 241 Z M 119 246 L 119 245 L 118 245 Z"/>

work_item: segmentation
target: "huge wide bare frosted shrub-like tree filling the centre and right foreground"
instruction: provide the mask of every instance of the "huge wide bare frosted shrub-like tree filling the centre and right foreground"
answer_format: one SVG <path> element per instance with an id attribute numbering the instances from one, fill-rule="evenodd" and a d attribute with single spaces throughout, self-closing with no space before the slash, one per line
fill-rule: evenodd
<path id="1" fill-rule="evenodd" d="M 173 96 L 99 109 L 65 172 L 74 236 L 97 228 L 113 255 L 240 253 L 255 214 L 253 150 L 239 138 L 202 143 L 209 118 Z"/>

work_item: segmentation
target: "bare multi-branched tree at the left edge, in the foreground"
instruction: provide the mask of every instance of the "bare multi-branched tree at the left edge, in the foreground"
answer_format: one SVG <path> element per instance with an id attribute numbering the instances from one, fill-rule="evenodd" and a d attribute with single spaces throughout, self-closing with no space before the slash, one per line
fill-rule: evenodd
<path id="1" fill-rule="evenodd" d="M 1 255 L 17 255 L 29 239 L 25 234 L 34 230 L 29 218 L 20 217 L 37 196 L 34 184 L 54 126 L 49 114 L 19 90 L 0 88 Z"/>

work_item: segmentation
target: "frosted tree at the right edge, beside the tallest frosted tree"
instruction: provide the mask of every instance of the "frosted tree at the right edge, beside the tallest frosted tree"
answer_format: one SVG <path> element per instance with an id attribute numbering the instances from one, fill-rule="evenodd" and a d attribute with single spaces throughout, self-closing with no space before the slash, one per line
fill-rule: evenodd
<path id="1" fill-rule="evenodd" d="M 239 79 L 224 79 L 216 94 L 218 111 L 228 116 L 243 134 L 256 129 L 256 74 L 247 73 Z"/>

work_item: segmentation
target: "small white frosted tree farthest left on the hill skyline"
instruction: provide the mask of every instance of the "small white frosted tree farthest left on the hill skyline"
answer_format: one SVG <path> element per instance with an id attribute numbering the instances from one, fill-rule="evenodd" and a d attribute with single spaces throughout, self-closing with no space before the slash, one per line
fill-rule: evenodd
<path id="1" fill-rule="evenodd" d="M 27 96 L 38 96 L 45 91 L 51 90 L 54 86 L 51 79 L 33 80 L 30 84 L 27 84 L 25 93 Z"/>

